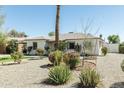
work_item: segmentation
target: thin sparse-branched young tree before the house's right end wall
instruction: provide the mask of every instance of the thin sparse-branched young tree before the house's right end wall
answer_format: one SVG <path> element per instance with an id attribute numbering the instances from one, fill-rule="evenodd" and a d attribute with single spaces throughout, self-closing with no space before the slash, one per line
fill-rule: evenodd
<path id="1" fill-rule="evenodd" d="M 82 24 L 82 32 L 84 33 L 84 38 L 83 38 L 83 45 L 82 45 L 82 52 L 83 52 L 83 61 L 82 61 L 82 66 L 84 65 L 84 60 L 86 56 L 91 56 L 95 61 L 97 61 L 96 55 L 96 49 L 97 49 L 97 39 L 89 39 L 89 36 L 93 36 L 90 31 L 93 32 L 92 30 L 92 22 L 93 20 L 87 20 L 86 24 Z M 98 33 L 100 30 L 100 26 L 98 29 L 96 29 L 94 35 Z M 93 41 L 92 41 L 93 40 Z M 87 60 L 88 58 L 86 58 Z"/>

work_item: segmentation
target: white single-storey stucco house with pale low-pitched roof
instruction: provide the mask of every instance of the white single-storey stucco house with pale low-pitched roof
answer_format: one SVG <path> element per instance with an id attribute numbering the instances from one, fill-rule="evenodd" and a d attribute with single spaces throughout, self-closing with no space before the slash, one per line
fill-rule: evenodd
<path id="1" fill-rule="evenodd" d="M 101 55 L 101 48 L 103 46 L 104 40 L 93 35 L 86 35 L 83 33 L 65 33 L 59 36 L 60 41 L 68 42 L 66 51 L 74 50 L 75 45 L 80 45 L 80 53 L 83 53 L 84 42 L 90 42 L 92 45 L 91 49 L 86 49 L 85 51 L 88 54 Z M 55 36 L 39 36 L 39 37 L 28 37 L 25 39 L 27 49 L 30 48 L 30 54 L 36 54 L 37 48 L 45 49 L 46 46 L 49 46 L 51 50 L 54 50 L 55 45 Z"/>

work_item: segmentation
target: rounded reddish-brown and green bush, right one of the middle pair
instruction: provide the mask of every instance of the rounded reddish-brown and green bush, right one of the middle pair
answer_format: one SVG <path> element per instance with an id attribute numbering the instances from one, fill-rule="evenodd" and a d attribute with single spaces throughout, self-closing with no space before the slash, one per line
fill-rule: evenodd
<path id="1" fill-rule="evenodd" d="M 70 69 L 74 69 L 80 63 L 80 55 L 77 52 L 65 53 L 63 61 L 70 67 Z"/>

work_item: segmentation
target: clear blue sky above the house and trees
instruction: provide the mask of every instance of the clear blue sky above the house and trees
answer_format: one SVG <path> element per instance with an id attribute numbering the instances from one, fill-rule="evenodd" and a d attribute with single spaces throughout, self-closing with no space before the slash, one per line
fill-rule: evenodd
<path id="1" fill-rule="evenodd" d="M 55 29 L 56 6 L 3 6 L 4 27 L 29 36 L 47 35 Z M 82 25 L 93 20 L 90 33 L 104 38 L 118 34 L 124 41 L 124 6 L 61 6 L 60 32 L 83 32 Z"/>

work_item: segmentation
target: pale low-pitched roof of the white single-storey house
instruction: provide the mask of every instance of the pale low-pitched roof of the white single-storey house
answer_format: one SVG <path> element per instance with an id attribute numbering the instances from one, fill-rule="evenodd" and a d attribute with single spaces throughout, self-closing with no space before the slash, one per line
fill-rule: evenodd
<path id="1" fill-rule="evenodd" d="M 93 36 L 91 34 L 83 34 L 83 33 L 65 33 L 59 36 L 59 40 L 79 40 L 79 39 L 100 39 L 99 37 Z M 38 37 L 28 37 L 27 40 L 49 40 L 55 41 L 55 36 L 38 36 Z"/>

